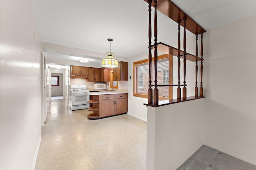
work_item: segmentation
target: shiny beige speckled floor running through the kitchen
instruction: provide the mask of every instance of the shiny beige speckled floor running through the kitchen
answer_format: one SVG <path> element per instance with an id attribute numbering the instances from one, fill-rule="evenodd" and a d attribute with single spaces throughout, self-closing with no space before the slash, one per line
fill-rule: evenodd
<path id="1" fill-rule="evenodd" d="M 35 170 L 144 170 L 147 124 L 130 115 L 89 120 L 50 102 Z"/>

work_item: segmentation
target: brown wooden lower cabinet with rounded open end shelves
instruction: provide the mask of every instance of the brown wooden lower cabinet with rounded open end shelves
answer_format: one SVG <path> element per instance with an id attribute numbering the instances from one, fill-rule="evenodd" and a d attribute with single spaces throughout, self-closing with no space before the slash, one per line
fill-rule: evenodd
<path id="1" fill-rule="evenodd" d="M 93 104 L 88 110 L 94 112 L 87 115 L 88 119 L 101 119 L 128 111 L 127 94 L 95 95 L 94 100 L 90 100 L 88 103 Z"/>

